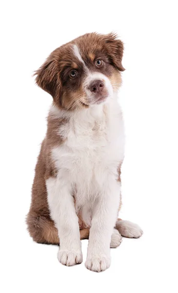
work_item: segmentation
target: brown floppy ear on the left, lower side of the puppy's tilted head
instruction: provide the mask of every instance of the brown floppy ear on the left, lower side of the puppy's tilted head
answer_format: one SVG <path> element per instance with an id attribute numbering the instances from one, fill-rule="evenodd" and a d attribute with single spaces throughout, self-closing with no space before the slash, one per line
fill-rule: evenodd
<path id="1" fill-rule="evenodd" d="M 36 84 L 48 92 L 55 102 L 59 100 L 61 94 L 61 82 L 57 67 L 56 61 L 49 56 L 34 74 L 37 75 Z"/>

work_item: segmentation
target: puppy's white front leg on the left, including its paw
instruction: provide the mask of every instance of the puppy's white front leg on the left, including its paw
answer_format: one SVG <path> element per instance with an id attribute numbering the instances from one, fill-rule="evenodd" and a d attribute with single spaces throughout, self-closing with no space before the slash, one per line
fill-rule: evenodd
<path id="1" fill-rule="evenodd" d="M 67 176 L 46 180 L 51 217 L 59 233 L 58 259 L 63 265 L 73 266 L 82 262 L 78 216 L 75 211 L 71 183 Z"/>

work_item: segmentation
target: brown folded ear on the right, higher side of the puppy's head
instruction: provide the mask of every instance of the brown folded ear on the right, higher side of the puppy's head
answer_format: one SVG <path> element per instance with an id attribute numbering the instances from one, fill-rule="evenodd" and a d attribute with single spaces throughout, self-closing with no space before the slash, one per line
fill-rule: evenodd
<path id="1" fill-rule="evenodd" d="M 125 68 L 122 66 L 123 56 L 123 42 L 117 39 L 117 35 L 110 33 L 105 35 L 103 41 L 107 45 L 108 57 L 110 62 L 118 68 L 119 71 L 124 71 Z"/>

